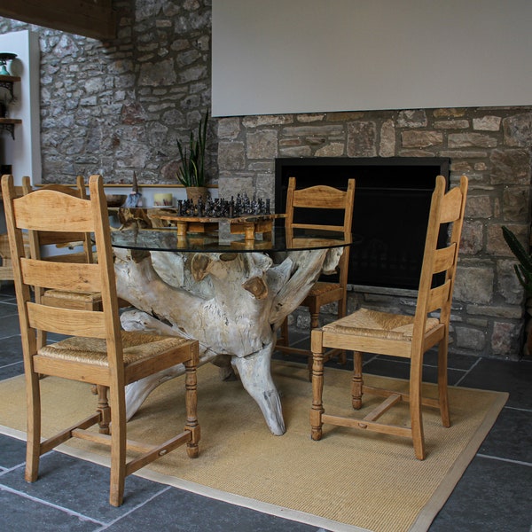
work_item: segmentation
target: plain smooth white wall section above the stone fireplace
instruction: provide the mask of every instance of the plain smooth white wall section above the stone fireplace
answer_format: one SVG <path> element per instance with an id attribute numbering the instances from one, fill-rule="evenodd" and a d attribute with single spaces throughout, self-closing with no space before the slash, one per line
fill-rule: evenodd
<path id="1" fill-rule="evenodd" d="M 213 115 L 532 104 L 530 0 L 213 0 Z"/>

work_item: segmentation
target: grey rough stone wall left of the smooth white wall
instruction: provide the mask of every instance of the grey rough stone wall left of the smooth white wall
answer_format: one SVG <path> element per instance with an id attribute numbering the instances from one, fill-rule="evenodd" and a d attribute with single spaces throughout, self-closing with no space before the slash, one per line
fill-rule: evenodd
<path id="1" fill-rule="evenodd" d="M 210 2 L 113 7 L 118 38 L 106 43 L 0 18 L 1 33 L 39 34 L 43 181 L 100 173 L 129 184 L 136 170 L 140 184 L 176 184 L 176 140 L 186 144 L 210 106 Z"/>

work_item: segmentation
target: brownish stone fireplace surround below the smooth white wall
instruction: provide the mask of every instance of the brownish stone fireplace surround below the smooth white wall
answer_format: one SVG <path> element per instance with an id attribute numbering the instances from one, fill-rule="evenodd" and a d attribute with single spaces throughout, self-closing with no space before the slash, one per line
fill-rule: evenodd
<path id="1" fill-rule="evenodd" d="M 301 113 L 218 119 L 219 193 L 275 197 L 278 157 L 443 157 L 450 186 L 470 179 L 453 299 L 450 350 L 516 359 L 522 356 L 524 293 L 501 234 L 505 224 L 528 240 L 529 108 L 460 108 Z M 411 312 L 415 291 L 351 287 L 348 310 L 360 304 Z M 334 319 L 325 309 L 323 323 Z M 293 323 L 308 328 L 305 309 Z"/>

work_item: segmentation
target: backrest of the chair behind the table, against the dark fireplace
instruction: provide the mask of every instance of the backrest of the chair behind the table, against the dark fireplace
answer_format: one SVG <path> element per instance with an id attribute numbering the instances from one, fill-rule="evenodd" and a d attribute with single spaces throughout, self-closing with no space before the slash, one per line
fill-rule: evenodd
<path id="1" fill-rule="evenodd" d="M 286 195 L 286 227 L 317 229 L 320 231 L 340 231 L 348 240 L 351 238 L 353 223 L 353 206 L 355 204 L 355 179 L 348 180 L 348 188 L 342 191 L 325 184 L 317 184 L 304 189 L 296 189 L 295 177 L 288 179 L 288 192 Z M 298 209 L 316 209 L 316 216 L 311 222 L 297 220 Z M 320 210 L 343 210 L 342 223 L 337 225 L 324 225 L 319 223 Z M 349 247 L 344 249 L 339 262 L 340 285 L 346 286 L 348 282 Z"/>

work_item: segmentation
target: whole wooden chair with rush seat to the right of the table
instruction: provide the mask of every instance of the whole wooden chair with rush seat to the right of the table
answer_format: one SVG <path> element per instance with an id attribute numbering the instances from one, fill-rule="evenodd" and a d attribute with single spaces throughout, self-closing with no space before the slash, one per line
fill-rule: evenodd
<path id="1" fill-rule="evenodd" d="M 406 436 L 412 439 L 415 455 L 422 460 L 426 456 L 421 417 L 422 405 L 439 408 L 443 426 L 450 426 L 447 395 L 450 305 L 458 262 L 458 246 L 464 221 L 466 195 L 467 178 L 465 176 L 461 177 L 459 186 L 452 188 L 447 193 L 445 193 L 444 177 L 438 176 L 436 178 L 414 316 L 390 314 L 363 308 L 312 332 L 311 348 L 314 354 L 314 364 L 312 367 L 313 403 L 310 411 L 310 424 L 313 440 L 321 439 L 324 423 Z M 452 231 L 447 246 L 437 248 L 440 226 L 443 223 L 452 223 Z M 404 235 L 404 238 L 408 239 L 408 235 Z M 433 284 L 434 276 L 436 274 L 443 275 L 443 273 L 444 279 L 439 284 Z M 436 312 L 437 317 L 434 317 L 434 312 L 438 310 L 439 312 Z M 421 395 L 423 356 L 426 350 L 436 344 L 439 344 L 438 398 L 423 398 Z M 325 414 L 322 403 L 323 353 L 325 348 L 352 349 L 355 353 L 355 371 L 351 390 L 354 409 L 361 408 L 362 395 L 366 392 L 385 398 L 364 419 Z M 395 390 L 364 386 L 363 352 L 410 359 L 409 392 L 399 393 Z M 394 404 L 401 401 L 410 403 L 411 426 L 390 425 L 385 421 L 378 420 Z"/>

